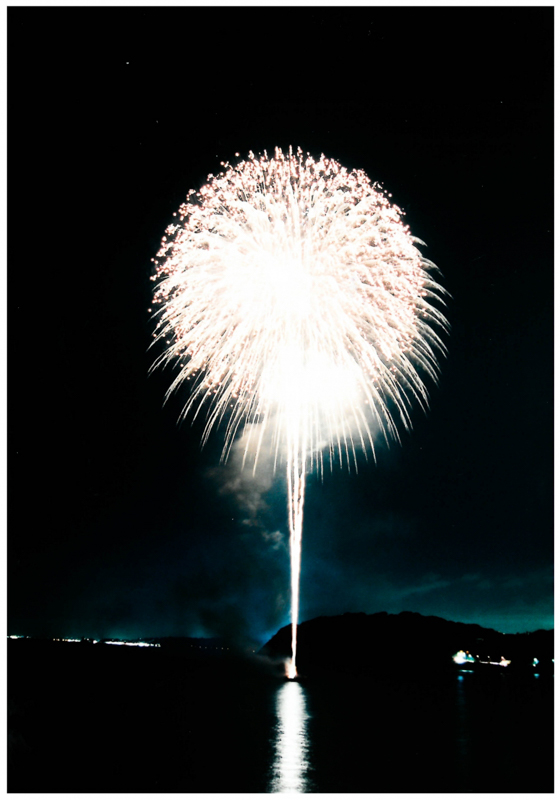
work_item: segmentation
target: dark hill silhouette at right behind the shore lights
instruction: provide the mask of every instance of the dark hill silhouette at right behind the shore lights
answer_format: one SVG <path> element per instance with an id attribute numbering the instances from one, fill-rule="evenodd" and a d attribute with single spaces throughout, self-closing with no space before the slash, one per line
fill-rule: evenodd
<path id="1" fill-rule="evenodd" d="M 483 662 L 509 660 L 510 670 L 552 670 L 554 631 L 504 634 L 476 624 L 452 622 L 403 611 L 400 614 L 347 613 L 318 617 L 298 625 L 297 666 L 302 675 L 320 672 L 384 673 L 402 669 L 454 669 L 459 650 Z M 289 658 L 291 626 L 262 648 L 271 658 Z"/>

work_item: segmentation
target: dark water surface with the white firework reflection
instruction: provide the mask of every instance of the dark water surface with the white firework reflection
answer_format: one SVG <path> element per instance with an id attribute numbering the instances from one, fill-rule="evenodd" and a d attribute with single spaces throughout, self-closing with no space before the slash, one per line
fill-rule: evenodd
<path id="1" fill-rule="evenodd" d="M 552 792 L 553 678 L 9 642 L 11 792 Z M 15 646 L 12 646 L 15 645 Z"/>

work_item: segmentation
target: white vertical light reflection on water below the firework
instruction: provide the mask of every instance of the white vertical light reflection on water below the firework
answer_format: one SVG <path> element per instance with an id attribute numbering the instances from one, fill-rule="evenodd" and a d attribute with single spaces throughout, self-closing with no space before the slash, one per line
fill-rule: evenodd
<path id="1" fill-rule="evenodd" d="M 286 681 L 276 694 L 274 762 L 269 792 L 311 791 L 309 740 L 305 692 L 295 681 Z"/>

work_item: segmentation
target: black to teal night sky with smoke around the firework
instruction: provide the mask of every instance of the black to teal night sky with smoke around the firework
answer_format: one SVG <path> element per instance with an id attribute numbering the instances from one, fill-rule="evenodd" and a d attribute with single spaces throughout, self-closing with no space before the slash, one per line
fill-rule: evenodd
<path id="1" fill-rule="evenodd" d="M 393 194 L 442 271 L 427 415 L 311 477 L 300 619 L 553 625 L 553 9 L 8 9 L 8 633 L 289 622 L 286 487 L 149 375 L 151 259 L 235 153 Z"/>

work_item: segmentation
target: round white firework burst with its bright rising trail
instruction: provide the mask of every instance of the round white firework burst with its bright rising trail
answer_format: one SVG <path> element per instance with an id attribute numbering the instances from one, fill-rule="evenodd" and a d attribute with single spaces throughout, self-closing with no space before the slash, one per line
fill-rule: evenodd
<path id="1" fill-rule="evenodd" d="M 375 435 L 410 427 L 414 401 L 427 408 L 445 292 L 363 171 L 291 148 L 222 167 L 189 192 L 153 259 L 166 342 L 154 367 L 178 364 L 168 395 L 191 381 L 183 416 L 207 408 L 203 442 L 224 422 L 224 459 L 242 429 L 254 468 L 265 446 L 286 465 L 295 677 L 306 473 L 322 474 L 326 455 L 356 464 Z"/>

